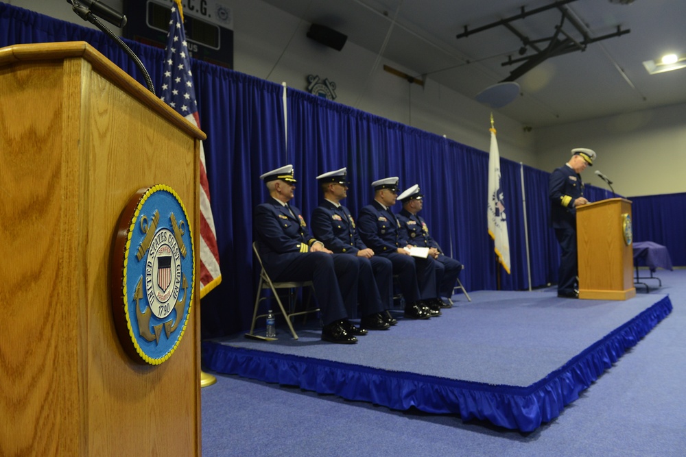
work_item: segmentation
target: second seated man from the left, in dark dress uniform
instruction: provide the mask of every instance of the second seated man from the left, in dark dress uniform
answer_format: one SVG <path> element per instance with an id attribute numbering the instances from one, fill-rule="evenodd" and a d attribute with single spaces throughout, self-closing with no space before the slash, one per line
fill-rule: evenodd
<path id="1" fill-rule="evenodd" d="M 346 169 L 317 177 L 324 201 L 312 213 L 312 234 L 335 254 L 355 256 L 359 264 L 357 299 L 366 314 L 359 322 L 363 329 L 386 330 L 397 323 L 388 313 L 393 304 L 393 267 L 387 258 L 374 255 L 362 243 L 350 210 L 340 204 L 347 196 Z M 381 314 L 381 311 L 384 311 Z"/>

